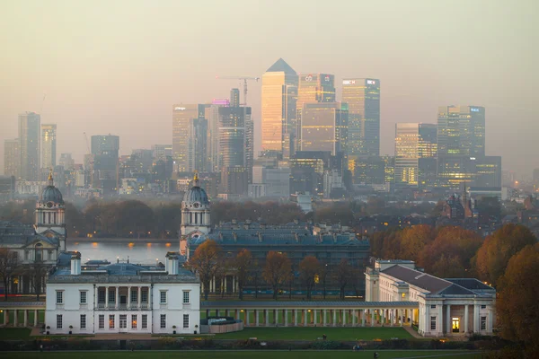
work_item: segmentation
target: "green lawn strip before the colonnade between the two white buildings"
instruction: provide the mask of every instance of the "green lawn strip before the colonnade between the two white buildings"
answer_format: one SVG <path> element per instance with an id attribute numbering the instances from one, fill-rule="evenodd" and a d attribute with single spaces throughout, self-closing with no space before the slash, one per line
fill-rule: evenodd
<path id="1" fill-rule="evenodd" d="M 354 341 L 412 338 L 403 328 L 329 328 L 329 327 L 287 327 L 287 328 L 243 328 L 234 333 L 216 334 L 216 339 L 248 339 L 259 340 L 315 340 L 323 335 L 327 340 Z"/>

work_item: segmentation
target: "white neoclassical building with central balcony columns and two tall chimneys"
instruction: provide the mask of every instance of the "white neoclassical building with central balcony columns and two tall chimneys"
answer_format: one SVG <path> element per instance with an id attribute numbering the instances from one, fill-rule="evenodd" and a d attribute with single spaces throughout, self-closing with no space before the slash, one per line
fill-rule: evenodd
<path id="1" fill-rule="evenodd" d="M 50 334 L 199 330 L 199 279 L 180 266 L 178 253 L 167 253 L 164 270 L 130 263 L 85 270 L 79 252 L 61 257 L 47 283 Z"/>

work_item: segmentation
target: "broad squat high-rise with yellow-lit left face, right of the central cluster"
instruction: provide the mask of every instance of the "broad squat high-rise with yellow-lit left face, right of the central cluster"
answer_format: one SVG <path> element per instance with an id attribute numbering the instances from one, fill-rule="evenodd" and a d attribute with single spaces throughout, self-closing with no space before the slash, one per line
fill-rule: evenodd
<path id="1" fill-rule="evenodd" d="M 398 123 L 395 125 L 395 187 L 420 187 L 420 161 L 430 159 L 436 162 L 437 126 L 434 124 Z M 435 169 L 429 162 L 421 162 L 426 167 L 425 178 Z M 430 169 L 430 171 L 429 171 Z M 433 171 L 434 170 L 434 171 Z M 425 180 L 427 185 L 427 180 Z M 433 183 L 429 183 L 433 185 Z"/>

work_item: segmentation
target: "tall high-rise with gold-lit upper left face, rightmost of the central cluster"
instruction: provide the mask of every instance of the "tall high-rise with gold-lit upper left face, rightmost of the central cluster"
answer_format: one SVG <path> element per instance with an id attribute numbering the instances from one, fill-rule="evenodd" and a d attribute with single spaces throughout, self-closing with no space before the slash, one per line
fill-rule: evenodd
<path id="1" fill-rule="evenodd" d="M 380 80 L 343 80 L 342 101 L 349 104 L 349 154 L 379 156 Z"/>

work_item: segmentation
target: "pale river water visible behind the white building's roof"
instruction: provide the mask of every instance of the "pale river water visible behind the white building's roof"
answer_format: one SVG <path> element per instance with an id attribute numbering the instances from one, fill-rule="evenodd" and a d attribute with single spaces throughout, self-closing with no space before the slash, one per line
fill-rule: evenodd
<path id="1" fill-rule="evenodd" d="M 68 239 L 67 250 L 81 253 L 83 263 L 88 259 L 107 259 L 111 263 L 117 258 L 129 259 L 131 263 L 154 264 L 156 259 L 164 261 L 168 251 L 180 249 L 179 240 L 137 240 L 128 238 Z"/>

